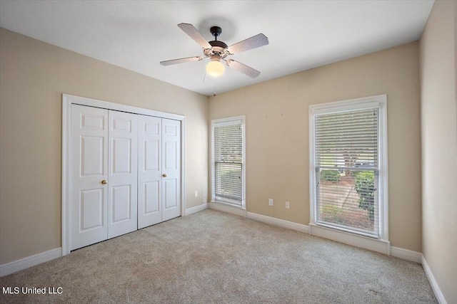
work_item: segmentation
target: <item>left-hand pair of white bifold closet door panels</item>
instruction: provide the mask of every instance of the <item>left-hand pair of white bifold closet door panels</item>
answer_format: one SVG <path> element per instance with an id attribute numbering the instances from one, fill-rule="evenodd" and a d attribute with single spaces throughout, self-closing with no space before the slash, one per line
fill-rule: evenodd
<path id="1" fill-rule="evenodd" d="M 71 105 L 71 250 L 137 229 L 137 115 Z"/>

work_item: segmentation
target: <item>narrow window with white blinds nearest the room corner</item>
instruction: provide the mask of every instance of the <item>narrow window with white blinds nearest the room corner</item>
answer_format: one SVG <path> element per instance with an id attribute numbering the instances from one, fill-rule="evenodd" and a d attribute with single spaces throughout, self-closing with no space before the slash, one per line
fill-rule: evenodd
<path id="1" fill-rule="evenodd" d="M 244 116 L 211 121 L 212 199 L 244 208 Z"/>

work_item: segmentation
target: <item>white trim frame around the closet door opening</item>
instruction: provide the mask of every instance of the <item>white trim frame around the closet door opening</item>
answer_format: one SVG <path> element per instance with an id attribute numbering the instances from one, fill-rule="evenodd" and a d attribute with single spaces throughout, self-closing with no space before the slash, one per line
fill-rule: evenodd
<path id="1" fill-rule="evenodd" d="M 116 110 L 140 115 L 179 120 L 181 122 L 181 216 L 186 216 L 186 174 L 185 174 L 185 135 L 186 117 L 184 115 L 159 112 L 144 108 L 110 103 L 108 101 L 84 98 L 75 95 L 62 95 L 62 256 L 70 253 L 71 239 L 71 105 L 86 105 L 93 108 Z"/>

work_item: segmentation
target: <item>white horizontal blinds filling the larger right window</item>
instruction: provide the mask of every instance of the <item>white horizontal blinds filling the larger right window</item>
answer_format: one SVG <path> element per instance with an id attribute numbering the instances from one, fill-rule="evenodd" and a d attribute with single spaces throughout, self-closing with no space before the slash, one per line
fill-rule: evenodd
<path id="1" fill-rule="evenodd" d="M 379 236 L 378 108 L 316 115 L 316 221 Z"/>

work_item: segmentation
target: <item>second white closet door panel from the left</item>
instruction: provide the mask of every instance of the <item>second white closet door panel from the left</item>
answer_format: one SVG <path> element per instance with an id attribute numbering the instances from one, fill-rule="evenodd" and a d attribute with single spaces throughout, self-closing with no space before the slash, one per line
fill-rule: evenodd
<path id="1" fill-rule="evenodd" d="M 137 229 L 137 117 L 109 111 L 108 239 Z"/>

